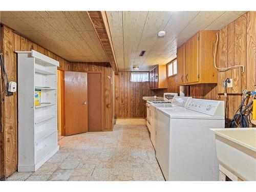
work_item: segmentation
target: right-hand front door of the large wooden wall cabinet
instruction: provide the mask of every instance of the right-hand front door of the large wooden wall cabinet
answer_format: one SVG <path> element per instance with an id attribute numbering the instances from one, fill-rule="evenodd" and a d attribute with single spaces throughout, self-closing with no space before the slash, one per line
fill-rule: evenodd
<path id="1" fill-rule="evenodd" d="M 185 83 L 198 81 L 198 35 L 185 43 Z"/>

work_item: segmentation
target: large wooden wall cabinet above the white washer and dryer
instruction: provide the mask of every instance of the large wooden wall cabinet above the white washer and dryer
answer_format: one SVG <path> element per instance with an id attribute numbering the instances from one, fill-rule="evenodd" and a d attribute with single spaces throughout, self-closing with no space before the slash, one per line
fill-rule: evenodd
<path id="1" fill-rule="evenodd" d="M 177 49 L 177 82 L 217 83 L 214 51 L 218 31 L 199 31 Z"/>

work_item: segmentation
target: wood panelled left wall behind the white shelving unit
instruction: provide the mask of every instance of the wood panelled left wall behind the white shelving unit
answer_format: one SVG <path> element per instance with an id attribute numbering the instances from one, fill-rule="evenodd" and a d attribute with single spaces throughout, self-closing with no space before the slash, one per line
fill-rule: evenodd
<path id="1" fill-rule="evenodd" d="M 58 60 L 59 69 L 72 69 L 72 64 L 67 60 L 14 33 L 12 29 L 6 26 L 3 26 L 2 29 L 4 60 L 9 81 L 17 81 L 15 51 L 30 51 L 33 49 Z M 4 131 L 1 133 L 1 137 L 1 176 L 9 176 L 16 171 L 17 167 L 17 93 L 5 97 Z"/>

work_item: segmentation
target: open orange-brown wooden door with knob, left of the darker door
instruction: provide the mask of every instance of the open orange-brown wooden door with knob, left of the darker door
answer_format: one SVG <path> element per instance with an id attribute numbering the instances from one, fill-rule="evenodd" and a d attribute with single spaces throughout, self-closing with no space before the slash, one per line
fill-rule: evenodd
<path id="1" fill-rule="evenodd" d="M 87 73 L 65 71 L 65 135 L 88 132 Z"/>

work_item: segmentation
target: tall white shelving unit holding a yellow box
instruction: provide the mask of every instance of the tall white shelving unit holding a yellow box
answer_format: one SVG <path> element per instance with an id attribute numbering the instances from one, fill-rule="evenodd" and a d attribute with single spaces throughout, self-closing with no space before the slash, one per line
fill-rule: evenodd
<path id="1" fill-rule="evenodd" d="M 18 54 L 18 172 L 35 172 L 58 150 L 57 67 L 34 50 Z M 35 89 L 41 105 L 35 105 Z"/>

